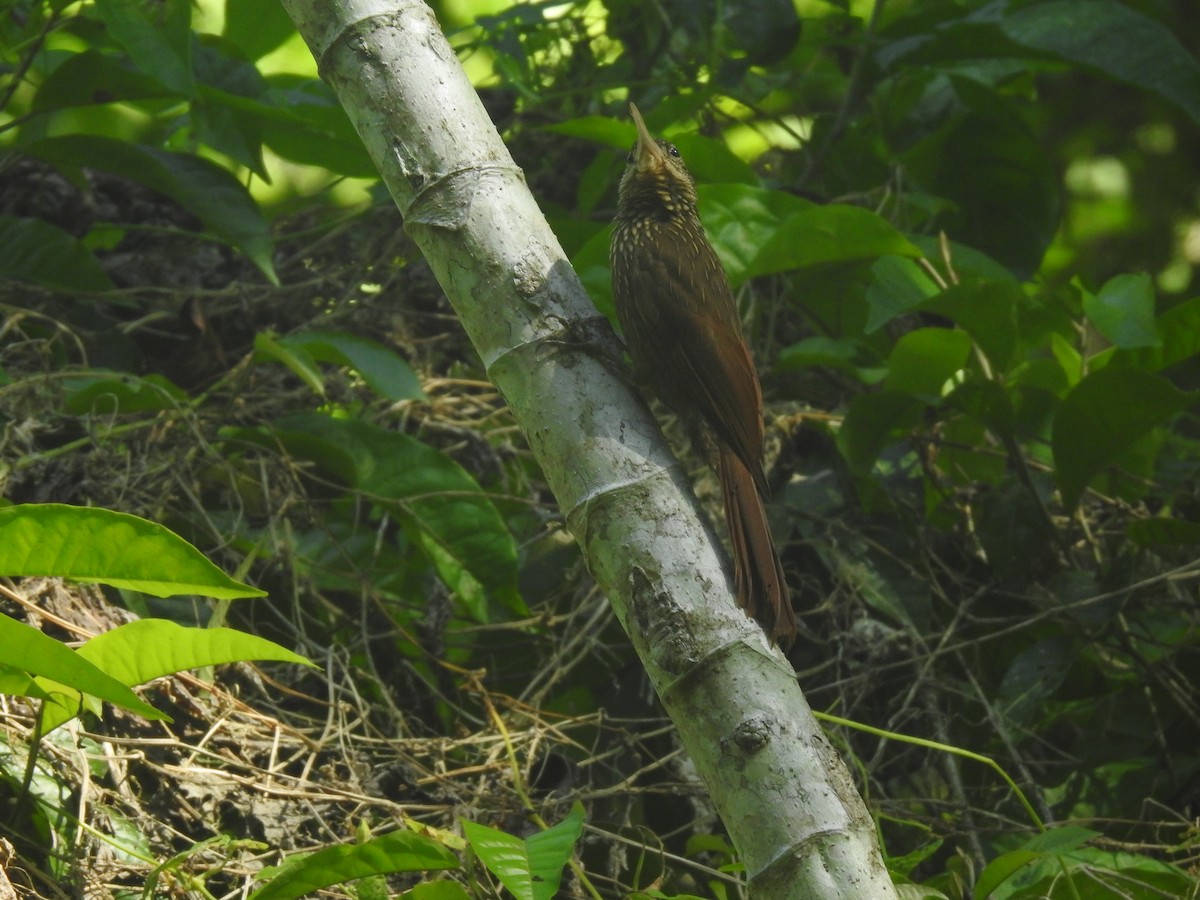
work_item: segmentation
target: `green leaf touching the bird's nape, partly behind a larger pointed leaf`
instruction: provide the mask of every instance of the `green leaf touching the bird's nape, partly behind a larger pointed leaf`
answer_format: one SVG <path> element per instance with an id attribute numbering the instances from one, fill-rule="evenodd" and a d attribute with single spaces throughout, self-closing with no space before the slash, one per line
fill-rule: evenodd
<path id="1" fill-rule="evenodd" d="M 749 277 L 755 258 L 782 223 L 812 208 L 784 191 L 750 185 L 701 185 L 697 193 L 704 232 L 734 287 Z"/>

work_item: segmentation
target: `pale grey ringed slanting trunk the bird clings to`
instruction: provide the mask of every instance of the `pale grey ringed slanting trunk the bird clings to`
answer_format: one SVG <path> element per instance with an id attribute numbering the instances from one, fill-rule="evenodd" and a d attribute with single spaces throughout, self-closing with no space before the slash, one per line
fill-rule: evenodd
<path id="1" fill-rule="evenodd" d="M 430 10 L 284 0 L 504 394 L 755 898 L 894 898 L 875 828 Z M 588 350 L 583 343 L 593 342 Z M 602 348 L 607 344 L 607 350 Z"/>

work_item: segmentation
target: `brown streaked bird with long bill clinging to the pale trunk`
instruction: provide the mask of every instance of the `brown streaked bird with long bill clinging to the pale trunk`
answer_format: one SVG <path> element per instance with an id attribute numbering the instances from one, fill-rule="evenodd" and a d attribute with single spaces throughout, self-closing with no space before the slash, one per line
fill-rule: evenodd
<path id="1" fill-rule="evenodd" d="M 728 276 L 704 234 L 679 150 L 634 103 L 637 143 L 617 192 L 610 244 L 617 320 L 637 380 L 715 456 L 738 605 L 785 649 L 796 640 L 764 505 L 762 386 Z M 710 460 L 712 462 L 712 460 Z"/>

